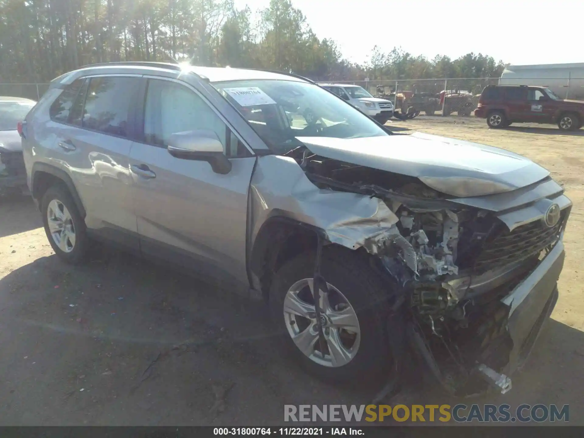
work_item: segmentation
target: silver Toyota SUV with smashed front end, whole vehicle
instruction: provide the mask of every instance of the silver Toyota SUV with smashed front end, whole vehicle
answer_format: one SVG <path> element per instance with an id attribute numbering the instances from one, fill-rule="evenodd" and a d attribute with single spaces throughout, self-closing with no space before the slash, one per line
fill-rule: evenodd
<path id="1" fill-rule="evenodd" d="M 321 378 L 412 355 L 454 394 L 506 392 L 558 298 L 571 201 L 548 171 L 392 134 L 295 75 L 92 65 L 54 79 L 22 144 L 60 258 L 103 239 L 264 300 Z"/>

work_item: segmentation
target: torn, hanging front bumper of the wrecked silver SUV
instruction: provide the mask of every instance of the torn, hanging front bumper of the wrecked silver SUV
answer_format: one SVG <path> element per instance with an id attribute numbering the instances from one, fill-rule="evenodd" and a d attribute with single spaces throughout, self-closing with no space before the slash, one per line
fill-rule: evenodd
<path id="1" fill-rule="evenodd" d="M 509 293 L 483 304 L 482 313 L 464 331 L 434 331 L 432 326 L 428 334 L 415 321 L 409 325 L 413 351 L 446 391 L 470 397 L 489 390 L 505 394 L 512 388 L 509 376 L 529 357 L 558 300 L 564 257 L 560 239 Z"/>

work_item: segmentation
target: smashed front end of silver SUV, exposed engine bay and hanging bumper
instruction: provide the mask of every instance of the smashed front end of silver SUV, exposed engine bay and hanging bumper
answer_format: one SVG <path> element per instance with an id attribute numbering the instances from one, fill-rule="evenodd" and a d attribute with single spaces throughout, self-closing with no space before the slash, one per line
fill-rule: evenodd
<path id="1" fill-rule="evenodd" d="M 510 229 L 497 212 L 458 203 L 411 176 L 306 148 L 288 156 L 319 189 L 367 195 L 388 207 L 383 231 L 363 230 L 358 246 L 390 274 L 406 309 L 409 345 L 440 384 L 461 396 L 489 387 L 509 391 L 508 374 L 526 359 L 557 299 L 569 200 L 560 208 L 545 199 L 558 209 L 554 223 L 531 220 Z"/>

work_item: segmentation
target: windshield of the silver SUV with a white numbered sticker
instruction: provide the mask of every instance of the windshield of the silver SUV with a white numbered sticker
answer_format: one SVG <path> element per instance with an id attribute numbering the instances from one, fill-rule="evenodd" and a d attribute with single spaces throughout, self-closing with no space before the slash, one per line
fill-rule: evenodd
<path id="1" fill-rule="evenodd" d="M 302 137 L 388 135 L 369 117 L 318 85 L 281 80 L 213 85 L 277 154 L 303 145 Z"/>

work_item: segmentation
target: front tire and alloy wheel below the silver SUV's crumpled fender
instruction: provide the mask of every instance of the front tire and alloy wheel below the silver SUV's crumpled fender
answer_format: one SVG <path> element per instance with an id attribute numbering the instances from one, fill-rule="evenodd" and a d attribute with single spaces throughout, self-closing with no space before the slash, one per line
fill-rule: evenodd
<path id="1" fill-rule="evenodd" d="M 381 376 L 381 373 L 392 365 L 386 330 L 390 295 L 387 281 L 382 281 L 379 274 L 358 253 L 338 247 L 325 247 L 322 251 L 321 273 L 329 284 L 328 300 L 331 304 L 331 307 L 327 306 L 328 310 L 325 313 L 331 315 L 331 318 L 335 317 L 338 312 L 338 309 L 333 309 L 335 303 L 345 299 L 349 308 L 343 312 L 353 311 L 353 317 L 356 315 L 357 329 L 353 334 L 345 329 L 336 329 L 331 325 L 333 319 L 325 318 L 326 326 L 323 330 L 328 329 L 329 333 L 325 352 L 328 350 L 329 340 L 331 342 L 343 340 L 345 353 L 349 352 L 345 360 L 337 361 L 335 364 L 333 355 L 329 353 L 331 350 L 326 352 L 329 354 L 320 353 L 314 314 L 311 315 L 314 318 L 310 320 L 284 312 L 285 301 L 290 308 L 288 293 L 293 289 L 297 290 L 297 300 L 301 297 L 304 300 L 312 300 L 312 304 L 301 301 L 307 304 L 308 308 L 314 309 L 314 299 L 308 286 L 310 283 L 303 283 L 307 280 L 312 281 L 314 258 L 314 252 L 307 252 L 289 260 L 278 270 L 272 281 L 269 297 L 270 316 L 279 333 L 282 333 L 283 345 L 308 373 L 325 381 L 352 384 Z M 298 284 L 299 286 L 296 286 Z M 294 322 L 290 322 L 291 318 L 294 318 Z M 305 350 L 312 354 L 312 358 L 296 345 L 292 339 L 294 331 L 297 331 L 297 336 L 308 335 L 308 331 L 311 331 L 308 337 L 311 343 L 307 344 Z M 339 349 L 336 352 L 339 352 Z"/>

